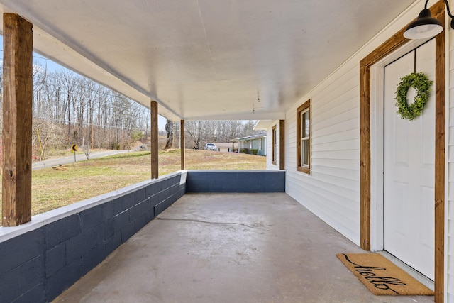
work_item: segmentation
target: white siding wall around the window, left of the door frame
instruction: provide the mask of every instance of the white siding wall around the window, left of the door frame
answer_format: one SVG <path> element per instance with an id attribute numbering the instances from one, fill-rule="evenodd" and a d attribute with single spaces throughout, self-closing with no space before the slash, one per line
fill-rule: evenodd
<path id="1" fill-rule="evenodd" d="M 358 65 L 339 75 L 326 88 L 319 86 L 286 113 L 287 193 L 359 244 Z M 296 170 L 297 115 L 294 112 L 307 99 L 311 99 L 311 175 Z"/>

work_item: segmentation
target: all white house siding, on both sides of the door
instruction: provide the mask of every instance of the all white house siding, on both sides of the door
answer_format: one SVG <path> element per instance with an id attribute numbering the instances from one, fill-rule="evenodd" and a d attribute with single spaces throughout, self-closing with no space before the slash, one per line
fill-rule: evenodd
<path id="1" fill-rule="evenodd" d="M 452 4 L 453 1 L 450 1 Z M 360 245 L 360 60 L 404 28 L 421 11 L 421 2 L 404 11 L 314 89 L 286 111 L 286 191 L 323 221 Z M 448 26 L 449 27 L 449 26 Z M 454 30 L 448 28 L 446 115 L 445 300 L 454 302 Z M 297 171 L 296 110 L 311 99 L 311 175 Z M 371 121 L 373 123 L 373 121 Z M 271 143 L 270 123 L 267 129 Z M 271 145 L 268 151 L 271 152 Z M 267 167 L 275 169 L 268 157 Z"/>

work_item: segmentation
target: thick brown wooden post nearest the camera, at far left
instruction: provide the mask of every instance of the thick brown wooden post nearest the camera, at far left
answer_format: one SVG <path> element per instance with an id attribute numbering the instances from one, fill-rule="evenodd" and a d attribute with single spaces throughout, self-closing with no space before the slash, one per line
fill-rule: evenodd
<path id="1" fill-rule="evenodd" d="M 4 13 L 3 226 L 31 221 L 32 24 Z"/>

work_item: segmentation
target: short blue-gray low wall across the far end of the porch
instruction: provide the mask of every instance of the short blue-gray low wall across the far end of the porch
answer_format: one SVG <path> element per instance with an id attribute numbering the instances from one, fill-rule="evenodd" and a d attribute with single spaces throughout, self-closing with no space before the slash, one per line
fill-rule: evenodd
<path id="1" fill-rule="evenodd" d="M 284 170 L 189 170 L 187 192 L 285 192 Z"/>

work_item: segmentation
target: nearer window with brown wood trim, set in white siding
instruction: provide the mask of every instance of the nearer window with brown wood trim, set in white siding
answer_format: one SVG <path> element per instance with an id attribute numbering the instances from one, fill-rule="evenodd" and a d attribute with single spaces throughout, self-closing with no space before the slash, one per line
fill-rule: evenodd
<path id="1" fill-rule="evenodd" d="M 311 100 L 297 109 L 297 170 L 311 173 Z"/>

